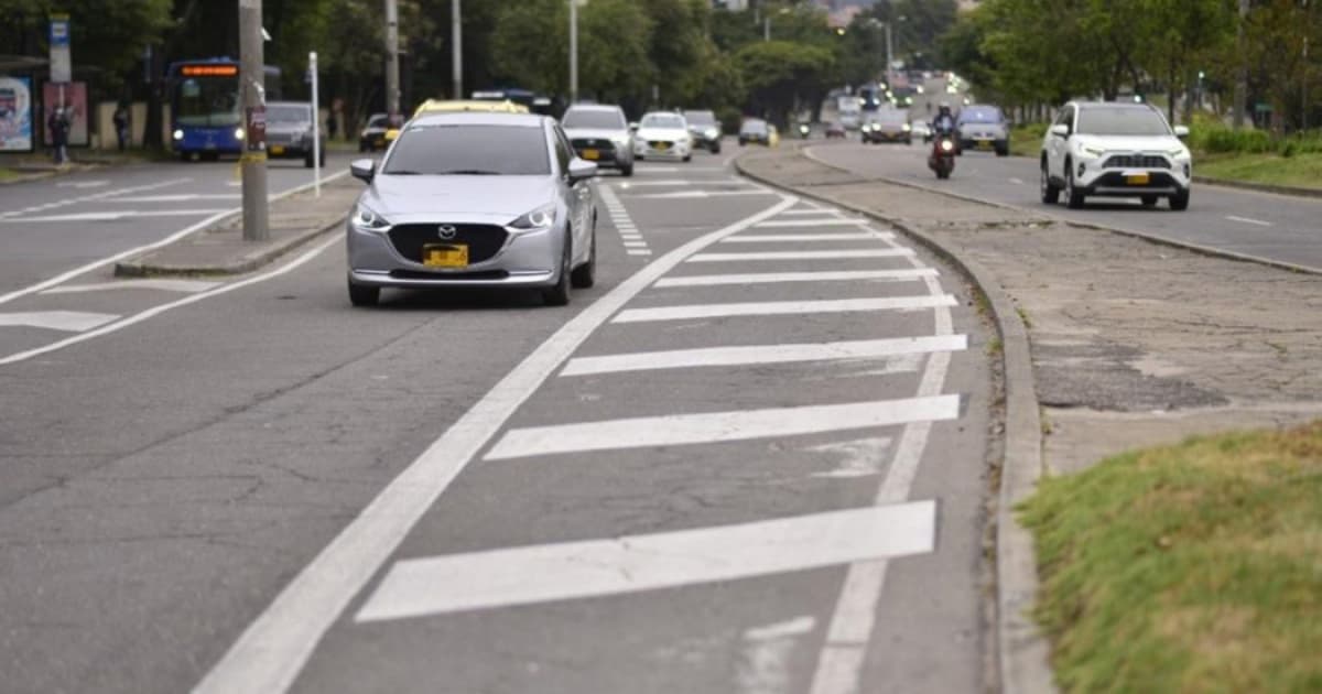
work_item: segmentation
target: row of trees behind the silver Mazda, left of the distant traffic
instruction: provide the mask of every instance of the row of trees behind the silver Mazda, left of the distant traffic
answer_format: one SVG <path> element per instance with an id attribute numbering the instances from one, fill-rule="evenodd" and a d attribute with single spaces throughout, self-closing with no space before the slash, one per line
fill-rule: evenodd
<path id="1" fill-rule="evenodd" d="M 46 17 L 71 16 L 75 78 L 93 100 L 164 99 L 171 61 L 238 57 L 237 0 L 0 0 L 4 52 L 45 56 Z M 324 104 L 344 103 L 356 127 L 385 102 L 382 0 L 264 0 L 266 62 L 286 98 L 308 93 L 308 52 L 319 52 Z M 399 0 L 405 106 L 452 98 L 451 0 Z M 884 25 L 895 56 L 936 65 L 933 46 L 954 24 L 956 0 L 879 0 L 849 28 L 813 3 L 761 0 L 755 11 L 710 0 L 588 0 L 579 8 L 579 95 L 648 108 L 711 108 L 783 126 L 842 85 L 884 71 Z M 768 40 L 769 38 L 769 40 Z M 149 50 L 149 53 L 148 53 Z M 567 0 L 464 0 L 465 90 L 568 93 Z M 159 132 L 148 124 L 148 134 Z"/>

